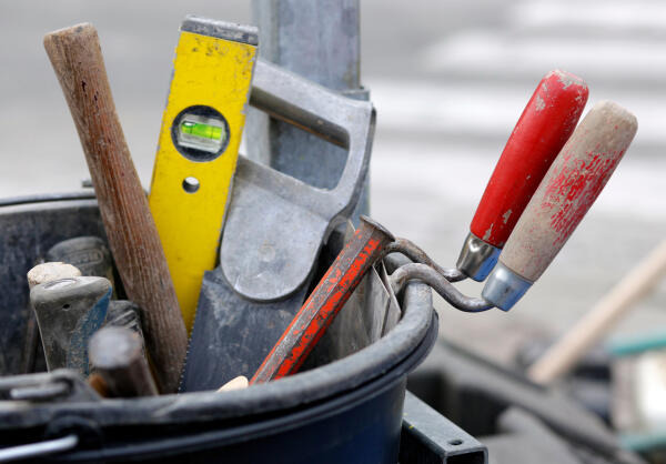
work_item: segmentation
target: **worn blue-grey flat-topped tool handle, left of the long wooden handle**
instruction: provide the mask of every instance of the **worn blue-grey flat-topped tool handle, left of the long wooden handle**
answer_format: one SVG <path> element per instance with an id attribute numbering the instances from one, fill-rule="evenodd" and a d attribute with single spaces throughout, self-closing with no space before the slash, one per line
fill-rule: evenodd
<path id="1" fill-rule="evenodd" d="M 107 317 L 111 283 L 104 278 L 69 278 L 36 285 L 37 313 L 49 371 L 68 367 L 89 374 L 88 342 Z"/>

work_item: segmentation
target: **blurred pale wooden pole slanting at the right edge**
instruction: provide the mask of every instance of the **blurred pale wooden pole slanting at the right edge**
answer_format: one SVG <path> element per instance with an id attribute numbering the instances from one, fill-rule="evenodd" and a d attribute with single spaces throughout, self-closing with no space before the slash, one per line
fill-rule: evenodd
<path id="1" fill-rule="evenodd" d="M 568 372 L 578 360 L 625 316 L 666 274 L 666 241 L 634 268 L 564 336 L 536 362 L 527 376 L 551 383 Z"/>

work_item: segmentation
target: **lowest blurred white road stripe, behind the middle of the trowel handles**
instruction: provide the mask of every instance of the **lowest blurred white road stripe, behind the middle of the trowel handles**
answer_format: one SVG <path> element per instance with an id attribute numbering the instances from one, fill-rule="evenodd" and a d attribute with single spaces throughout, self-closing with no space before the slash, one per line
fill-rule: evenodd
<path id="1" fill-rule="evenodd" d="M 475 209 L 503 147 L 477 150 L 463 144 L 436 147 L 384 142 L 377 134 L 371 165 L 374 199 L 401 193 L 431 204 Z M 592 211 L 606 216 L 663 221 L 666 159 L 637 158 L 629 148 Z M 436 209 L 433 209 L 434 214 Z M 471 213 L 472 214 L 472 213 Z"/>

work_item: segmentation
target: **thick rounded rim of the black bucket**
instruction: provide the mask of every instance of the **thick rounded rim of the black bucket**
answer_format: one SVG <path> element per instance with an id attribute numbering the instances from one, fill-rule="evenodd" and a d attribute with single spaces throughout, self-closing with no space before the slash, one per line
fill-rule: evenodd
<path id="1" fill-rule="evenodd" d="M 0 215 L 26 210 L 31 205 L 42 208 L 94 208 L 97 201 L 90 193 L 34 195 L 0 201 Z M 17 201 L 19 200 L 19 201 Z M 44 204 L 48 202 L 48 206 Z M 12 208 L 13 206 L 13 208 Z M 165 424 L 183 422 L 210 422 L 234 417 L 276 413 L 315 404 L 336 395 L 343 395 L 370 383 L 394 369 L 418 346 L 433 324 L 432 291 L 421 283 L 407 285 L 402 302 L 402 317 L 386 335 L 373 344 L 344 359 L 251 389 L 224 392 L 191 392 L 155 397 L 102 400 L 99 402 L 27 404 L 0 408 L 0 424 L 43 424 L 53 417 L 75 410 L 99 425 Z M 406 372 L 405 372 L 406 374 Z M 4 410 L 4 411 L 2 411 Z M 132 411 L 132 414 L 127 414 Z M 12 420 L 12 416 L 14 420 Z M 129 417 L 128 417 L 129 416 Z M 0 430 L 6 428 L 0 425 Z"/>

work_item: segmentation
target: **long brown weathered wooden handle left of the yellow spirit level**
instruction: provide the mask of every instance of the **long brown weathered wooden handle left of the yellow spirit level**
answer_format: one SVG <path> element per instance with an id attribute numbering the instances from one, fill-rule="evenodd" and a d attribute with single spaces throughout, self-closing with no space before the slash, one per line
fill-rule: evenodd
<path id="1" fill-rule="evenodd" d="M 95 29 L 44 37 L 70 108 L 128 297 L 145 312 L 147 349 L 162 393 L 178 389 L 186 332 L 154 221 L 115 113 Z"/>

